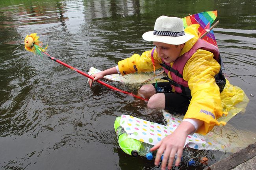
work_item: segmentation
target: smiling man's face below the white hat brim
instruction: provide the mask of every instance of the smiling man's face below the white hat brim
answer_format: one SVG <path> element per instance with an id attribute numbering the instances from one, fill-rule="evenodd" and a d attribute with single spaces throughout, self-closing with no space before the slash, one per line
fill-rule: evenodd
<path id="1" fill-rule="evenodd" d="M 154 42 L 153 44 L 156 46 L 158 56 L 162 57 L 166 63 L 174 62 L 179 57 L 180 52 L 184 47 L 184 44 L 171 45 L 163 42 Z"/>

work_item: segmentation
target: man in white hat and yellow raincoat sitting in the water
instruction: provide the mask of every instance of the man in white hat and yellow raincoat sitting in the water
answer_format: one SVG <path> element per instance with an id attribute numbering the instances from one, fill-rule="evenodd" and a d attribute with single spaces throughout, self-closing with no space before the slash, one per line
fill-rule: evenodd
<path id="1" fill-rule="evenodd" d="M 198 27 L 194 24 L 184 30 L 182 19 L 160 16 L 156 19 L 154 31 L 142 36 L 153 42 L 153 49 L 141 56 L 134 54 L 121 60 L 117 66 L 91 75 L 94 79 L 88 80 L 91 87 L 94 81 L 106 75 L 165 70 L 168 81 L 146 84 L 138 91 L 138 95 L 148 99 L 148 108 L 186 108 L 184 119 L 176 130 L 151 148 L 151 151 L 158 150 L 156 165 L 164 153 L 162 170 L 166 165 L 168 169 L 172 168 L 174 157 L 175 165 L 180 164 L 189 134 L 206 134 L 215 125 L 226 124 L 217 119 L 247 98 L 243 90 L 225 79 L 218 48 L 198 37 Z"/>

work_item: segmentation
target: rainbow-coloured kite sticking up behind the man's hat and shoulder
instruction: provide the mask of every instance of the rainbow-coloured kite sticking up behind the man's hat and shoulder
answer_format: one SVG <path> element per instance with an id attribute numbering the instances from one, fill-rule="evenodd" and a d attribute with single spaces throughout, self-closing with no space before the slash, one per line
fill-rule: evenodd
<path id="1" fill-rule="evenodd" d="M 184 28 L 192 25 L 192 24 L 199 24 L 200 27 L 198 28 L 199 37 L 203 35 L 206 31 L 208 34 L 204 36 L 202 39 L 206 40 L 210 44 L 217 46 L 217 42 L 213 33 L 213 30 L 209 30 L 213 21 L 217 18 L 217 10 L 215 11 L 206 11 L 194 15 L 186 16 L 182 18 Z"/>

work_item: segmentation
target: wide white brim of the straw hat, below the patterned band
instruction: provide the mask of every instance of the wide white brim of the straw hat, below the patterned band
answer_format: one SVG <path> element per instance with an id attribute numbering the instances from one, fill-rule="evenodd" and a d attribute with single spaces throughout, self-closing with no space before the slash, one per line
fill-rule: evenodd
<path id="1" fill-rule="evenodd" d="M 179 45 L 195 37 L 194 35 L 187 34 L 187 33 L 179 37 L 171 37 L 171 36 L 163 36 L 163 35 L 154 35 L 153 32 L 154 31 L 148 31 L 144 33 L 142 35 L 142 38 L 146 41 L 163 42 L 166 44 Z"/>

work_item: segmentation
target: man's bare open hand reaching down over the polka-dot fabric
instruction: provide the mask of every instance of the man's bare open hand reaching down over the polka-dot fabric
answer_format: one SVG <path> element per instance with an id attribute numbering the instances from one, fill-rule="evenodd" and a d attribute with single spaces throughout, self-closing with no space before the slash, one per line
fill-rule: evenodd
<path id="1" fill-rule="evenodd" d="M 189 122 L 182 122 L 171 135 L 163 138 L 159 143 L 152 147 L 150 151 L 158 149 L 155 158 L 155 165 L 159 165 L 161 155 L 163 154 L 161 170 L 165 170 L 167 161 L 167 168 L 171 169 L 175 158 L 175 166 L 179 166 L 187 135 L 194 130 L 195 128 L 192 124 Z"/>

